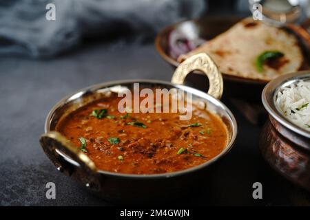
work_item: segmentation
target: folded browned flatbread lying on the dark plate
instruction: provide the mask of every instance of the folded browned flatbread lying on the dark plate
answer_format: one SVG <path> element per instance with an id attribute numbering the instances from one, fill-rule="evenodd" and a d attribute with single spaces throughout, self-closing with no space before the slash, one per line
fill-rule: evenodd
<path id="1" fill-rule="evenodd" d="M 256 59 L 267 51 L 282 52 L 284 56 L 265 62 L 260 72 Z M 223 34 L 181 55 L 178 61 L 201 52 L 209 54 L 223 74 L 253 80 L 271 80 L 281 74 L 296 72 L 303 63 L 296 36 L 251 18 L 243 19 Z"/>

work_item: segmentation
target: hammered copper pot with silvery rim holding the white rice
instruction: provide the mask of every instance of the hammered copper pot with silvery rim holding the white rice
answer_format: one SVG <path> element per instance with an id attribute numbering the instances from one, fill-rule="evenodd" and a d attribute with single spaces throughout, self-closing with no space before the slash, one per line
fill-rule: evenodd
<path id="1" fill-rule="evenodd" d="M 310 191 L 310 132 L 287 120 L 275 104 L 278 91 L 298 80 L 310 80 L 310 72 L 285 74 L 262 91 L 269 120 L 260 135 L 260 151 L 281 175 Z"/>

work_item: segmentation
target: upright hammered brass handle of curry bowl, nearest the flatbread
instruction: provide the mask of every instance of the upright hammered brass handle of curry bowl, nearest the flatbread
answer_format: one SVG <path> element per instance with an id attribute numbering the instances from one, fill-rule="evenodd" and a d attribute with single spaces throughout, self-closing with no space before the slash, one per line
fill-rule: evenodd
<path id="1" fill-rule="evenodd" d="M 185 77 L 194 70 L 200 70 L 209 78 L 208 94 L 220 99 L 223 94 L 223 77 L 212 59 L 205 53 L 190 56 L 180 63 L 172 76 L 171 82 L 183 84 Z"/>

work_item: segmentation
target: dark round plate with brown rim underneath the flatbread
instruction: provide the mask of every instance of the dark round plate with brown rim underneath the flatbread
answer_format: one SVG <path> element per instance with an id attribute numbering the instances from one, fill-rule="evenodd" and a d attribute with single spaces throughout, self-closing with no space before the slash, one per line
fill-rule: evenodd
<path id="1" fill-rule="evenodd" d="M 158 54 L 160 54 L 161 57 L 167 61 L 167 63 L 173 67 L 177 67 L 180 63 L 178 63 L 176 58 L 173 58 L 169 52 L 169 34 L 171 32 L 178 31 L 185 36 L 186 39 L 192 39 L 192 41 L 199 41 L 199 39 L 208 41 L 213 39 L 215 36 L 218 36 L 218 34 L 225 32 L 231 28 L 232 25 L 238 23 L 238 21 L 242 19 L 243 18 L 241 17 L 205 17 L 202 19 L 181 21 L 180 23 L 169 25 L 157 34 L 155 39 L 156 50 L 158 51 Z M 300 47 L 302 47 L 304 53 L 304 65 L 302 66 L 302 69 L 309 69 L 309 34 L 305 34 L 307 32 L 304 31 L 304 28 L 300 28 L 300 26 L 296 25 L 288 25 L 286 30 L 288 32 L 292 32 L 298 37 Z M 199 72 L 195 73 L 200 74 Z M 269 80 L 258 80 L 244 78 L 241 76 L 231 76 L 225 73 L 222 74 L 225 82 L 230 81 L 241 83 L 243 85 L 258 85 L 258 90 L 260 90 L 260 92 L 262 91 L 263 86 L 269 82 Z"/>

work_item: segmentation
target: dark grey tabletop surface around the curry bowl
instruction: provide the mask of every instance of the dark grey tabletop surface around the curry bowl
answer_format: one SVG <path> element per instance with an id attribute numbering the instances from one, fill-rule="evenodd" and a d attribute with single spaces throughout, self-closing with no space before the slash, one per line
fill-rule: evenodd
<path id="1" fill-rule="evenodd" d="M 170 80 L 172 68 L 152 44 L 92 44 L 48 61 L 0 58 L 0 204 L 36 206 L 109 205 L 59 173 L 39 145 L 45 116 L 51 107 L 77 89 L 125 78 Z M 226 94 L 227 95 L 227 94 Z M 238 121 L 236 146 L 211 177 L 208 193 L 196 204 L 294 205 L 309 195 L 279 177 L 258 151 L 260 127 L 247 122 L 231 105 Z M 56 199 L 46 199 L 45 184 L 56 184 Z M 252 184 L 262 183 L 263 199 L 252 197 Z M 195 203 L 196 198 L 178 201 Z"/>

